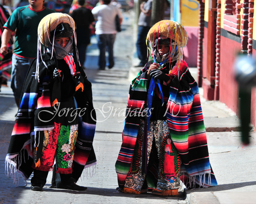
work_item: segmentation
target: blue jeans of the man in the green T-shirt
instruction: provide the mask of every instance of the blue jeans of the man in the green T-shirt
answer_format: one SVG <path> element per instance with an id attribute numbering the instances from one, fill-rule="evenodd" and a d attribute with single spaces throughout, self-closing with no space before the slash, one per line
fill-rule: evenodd
<path id="1" fill-rule="evenodd" d="M 22 87 L 32 61 L 33 59 L 12 55 L 11 88 L 15 98 L 21 97 Z"/>

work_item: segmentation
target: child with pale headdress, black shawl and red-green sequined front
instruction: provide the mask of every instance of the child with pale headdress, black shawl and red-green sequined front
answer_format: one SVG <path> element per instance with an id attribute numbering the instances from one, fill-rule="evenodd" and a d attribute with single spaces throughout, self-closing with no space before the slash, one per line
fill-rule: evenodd
<path id="1" fill-rule="evenodd" d="M 41 53 L 41 43 L 48 52 L 43 47 Z M 6 156 L 12 172 L 26 180 L 33 172 L 31 190 L 41 191 L 55 160 L 61 188 L 86 190 L 76 182 L 84 168 L 96 164 L 93 110 L 91 83 L 78 59 L 75 22 L 63 13 L 49 14 L 38 26 L 37 58 L 28 70 Z"/>

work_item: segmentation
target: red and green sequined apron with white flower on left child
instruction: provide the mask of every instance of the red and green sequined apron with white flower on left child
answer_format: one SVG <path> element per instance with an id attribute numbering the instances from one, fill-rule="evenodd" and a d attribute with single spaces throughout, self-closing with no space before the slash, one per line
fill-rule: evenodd
<path id="1" fill-rule="evenodd" d="M 76 138 L 78 135 L 78 117 L 75 115 L 74 100 L 60 102 L 59 112 L 54 120 L 54 129 L 39 131 L 39 137 L 44 137 L 42 156 L 40 166 L 36 169 L 49 171 L 52 169 L 54 159 L 58 166 L 57 173 L 70 174 L 72 172 L 72 163 Z M 73 108 L 67 113 L 64 108 Z M 74 111 L 72 113 L 72 111 Z M 59 114 L 60 113 L 60 114 Z M 59 117 L 59 115 L 61 117 Z M 72 116 L 73 115 L 73 116 Z M 70 122 L 69 122 L 70 121 Z M 34 141 L 33 141 L 34 142 Z M 36 159 L 36 148 L 33 148 L 34 160 Z"/>

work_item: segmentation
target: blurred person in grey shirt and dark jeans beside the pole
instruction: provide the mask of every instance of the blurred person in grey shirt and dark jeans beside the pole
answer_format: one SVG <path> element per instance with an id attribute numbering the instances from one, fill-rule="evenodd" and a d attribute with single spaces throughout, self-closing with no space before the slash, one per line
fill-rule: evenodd
<path id="1" fill-rule="evenodd" d="M 151 28 L 152 0 L 142 0 L 140 4 L 140 16 L 138 20 L 137 54 L 140 63 L 136 67 L 144 67 L 147 63 L 146 36 Z"/>

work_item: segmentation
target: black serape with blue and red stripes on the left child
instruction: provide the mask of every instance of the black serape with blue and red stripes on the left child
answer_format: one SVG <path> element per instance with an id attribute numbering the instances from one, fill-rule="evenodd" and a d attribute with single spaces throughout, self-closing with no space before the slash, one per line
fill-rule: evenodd
<path id="1" fill-rule="evenodd" d="M 36 59 L 32 62 L 28 70 L 25 84 L 23 85 L 20 108 L 15 120 L 6 156 L 7 171 L 11 169 L 14 178 L 18 172 L 27 180 L 33 172 L 31 166 L 34 161 L 31 146 L 34 144 L 31 144 L 31 137 L 34 137 L 34 131 L 52 130 L 54 128 L 54 121 L 49 118 L 51 114 L 48 113 L 44 115 L 42 112 L 40 113 L 40 119 L 43 121 L 50 120 L 48 122 L 42 122 L 38 119 L 38 113 L 40 111 L 55 113 L 57 109 L 55 105 L 56 109 L 54 110 L 50 101 L 50 95 L 53 97 L 54 91 L 50 93 L 49 90 L 49 76 L 53 73 L 55 62 L 50 60 L 51 56 L 48 53 L 43 54 L 42 57 L 47 64 L 47 68 L 40 60 L 39 82 L 34 77 L 36 72 Z M 78 71 L 81 72 L 81 76 L 84 79 L 84 90 L 78 90 L 74 97 L 78 105 L 78 115 L 83 108 L 83 111 L 85 111 L 81 112 L 81 115 L 79 115 L 81 117 L 79 117 L 78 137 L 75 144 L 73 178 L 76 181 L 78 181 L 84 169 L 96 164 L 96 157 L 92 146 L 96 128 L 96 113 L 92 104 L 91 83 L 87 80 L 86 74 L 81 67 L 78 68 Z M 60 77 L 55 81 L 51 81 L 51 83 L 53 83 L 51 85 L 53 89 L 54 85 L 59 87 L 57 95 L 59 94 L 60 96 Z M 54 115 L 52 115 L 52 118 L 53 116 Z M 42 149 L 43 142 L 44 137 L 40 137 L 39 135 L 37 154 L 40 154 L 38 153 L 38 149 Z M 38 162 L 38 158 L 35 162 Z"/>

